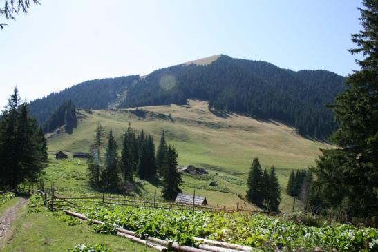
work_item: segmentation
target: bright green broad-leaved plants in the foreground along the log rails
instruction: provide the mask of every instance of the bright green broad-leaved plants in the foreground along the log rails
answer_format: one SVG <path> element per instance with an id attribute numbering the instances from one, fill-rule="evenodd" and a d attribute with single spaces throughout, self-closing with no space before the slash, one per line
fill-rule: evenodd
<path id="1" fill-rule="evenodd" d="M 140 238 L 153 236 L 196 246 L 193 237 L 209 238 L 274 251 L 377 251 L 378 231 L 373 228 L 327 222 L 306 226 L 281 217 L 205 211 L 133 209 L 118 206 L 87 206 L 77 209 L 105 224 L 95 226 L 98 233 L 114 233 L 114 226 L 135 231 Z"/>

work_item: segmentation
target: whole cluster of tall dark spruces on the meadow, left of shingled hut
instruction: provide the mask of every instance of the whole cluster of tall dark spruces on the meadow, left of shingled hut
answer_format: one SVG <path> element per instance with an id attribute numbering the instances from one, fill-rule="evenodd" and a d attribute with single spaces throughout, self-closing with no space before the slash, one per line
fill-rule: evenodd
<path id="1" fill-rule="evenodd" d="M 176 198 L 182 184 L 181 175 L 177 171 L 178 154 L 173 146 L 167 145 L 164 132 L 157 155 L 155 155 L 153 137 L 144 133 L 144 130 L 138 134 L 131 128 L 131 124 L 124 133 L 120 150 L 113 132 L 108 133 L 107 144 L 104 144 L 104 134 L 104 129 L 99 124 L 90 147 L 88 175 L 89 182 L 94 188 L 106 191 L 129 191 L 133 187 L 134 177 L 141 180 L 161 178 L 163 197 L 166 200 Z"/>

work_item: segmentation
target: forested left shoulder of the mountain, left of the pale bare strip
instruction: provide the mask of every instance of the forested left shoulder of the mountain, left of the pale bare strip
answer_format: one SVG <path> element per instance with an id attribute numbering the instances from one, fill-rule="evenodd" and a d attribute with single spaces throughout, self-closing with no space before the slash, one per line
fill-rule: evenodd
<path id="1" fill-rule="evenodd" d="M 69 99 L 77 108 L 107 108 L 117 99 L 117 95 L 120 95 L 138 78 L 138 75 L 131 75 L 82 82 L 59 93 L 51 93 L 44 98 L 30 102 L 28 105 L 30 115 L 36 117 L 39 124 L 44 124 L 53 115 L 54 110 Z"/>

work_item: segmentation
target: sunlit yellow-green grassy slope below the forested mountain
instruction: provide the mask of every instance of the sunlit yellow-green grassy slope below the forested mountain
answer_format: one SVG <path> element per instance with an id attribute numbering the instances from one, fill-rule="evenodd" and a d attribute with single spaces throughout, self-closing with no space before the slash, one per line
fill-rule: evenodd
<path id="1" fill-rule="evenodd" d="M 131 122 L 136 130 L 151 133 L 158 145 L 165 130 L 167 141 L 178 150 L 178 162 L 182 166 L 205 166 L 210 174 L 198 179 L 185 175 L 183 189 L 205 195 L 210 204 L 234 206 L 243 202 L 236 194 L 245 194 L 245 181 L 252 157 L 258 157 L 263 167 L 274 165 L 283 192 L 290 171 L 314 164 L 319 148 L 331 148 L 297 135 L 292 128 L 277 122 L 261 122 L 243 115 L 214 115 L 202 101 L 189 101 L 189 106 L 145 107 L 146 117 L 137 117 L 129 110 L 93 111 L 84 113 L 73 135 L 59 133 L 48 139 L 48 150 L 88 151 L 97 123 L 106 130 L 113 129 L 118 142 Z M 171 114 L 173 119 L 167 116 Z M 83 166 L 82 172 L 85 173 Z M 218 181 L 217 191 L 209 186 Z M 151 195 L 155 185 L 144 182 L 144 191 Z M 243 202 L 244 204 L 245 202 Z M 291 199 L 283 193 L 283 210 L 290 209 Z"/>

